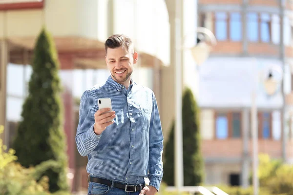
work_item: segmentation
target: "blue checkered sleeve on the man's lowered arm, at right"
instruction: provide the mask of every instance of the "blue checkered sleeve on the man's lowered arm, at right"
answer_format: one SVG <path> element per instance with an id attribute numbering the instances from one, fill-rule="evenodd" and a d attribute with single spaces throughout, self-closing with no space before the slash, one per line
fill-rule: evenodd
<path id="1" fill-rule="evenodd" d="M 163 177 L 163 131 L 157 101 L 153 96 L 153 109 L 149 128 L 149 160 L 148 160 L 148 179 L 149 185 L 158 191 Z"/>

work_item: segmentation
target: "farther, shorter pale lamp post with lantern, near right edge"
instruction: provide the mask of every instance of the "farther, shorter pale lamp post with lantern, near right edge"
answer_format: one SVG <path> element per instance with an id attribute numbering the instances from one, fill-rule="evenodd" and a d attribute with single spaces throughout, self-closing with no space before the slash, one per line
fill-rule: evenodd
<path id="1" fill-rule="evenodd" d="M 256 66 L 255 66 L 256 68 Z M 274 77 L 274 73 L 279 73 L 280 78 Z M 273 96 L 278 89 L 279 84 L 282 82 L 283 74 L 277 66 L 269 67 L 267 73 L 263 74 L 265 78 L 261 78 L 262 84 L 265 89 L 265 93 L 269 96 Z M 258 86 L 258 72 L 256 71 L 255 87 L 251 93 L 251 131 L 252 131 L 252 184 L 253 184 L 253 195 L 258 195 L 259 180 L 257 176 L 258 170 L 258 125 L 257 125 L 257 86 Z"/>

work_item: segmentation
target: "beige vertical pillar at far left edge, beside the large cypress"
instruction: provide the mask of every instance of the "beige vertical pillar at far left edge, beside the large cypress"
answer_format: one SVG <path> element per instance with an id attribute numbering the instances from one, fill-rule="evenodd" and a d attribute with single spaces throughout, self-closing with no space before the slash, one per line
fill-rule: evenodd
<path id="1" fill-rule="evenodd" d="M 0 40 L 0 125 L 4 126 L 4 133 L 0 135 L 3 143 L 8 146 L 9 132 L 6 121 L 6 81 L 7 81 L 7 65 L 9 59 L 7 40 Z"/>

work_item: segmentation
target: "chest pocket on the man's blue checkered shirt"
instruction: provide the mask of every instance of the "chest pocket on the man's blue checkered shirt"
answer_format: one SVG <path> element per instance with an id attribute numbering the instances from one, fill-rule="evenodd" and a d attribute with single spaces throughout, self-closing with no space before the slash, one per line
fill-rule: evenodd
<path id="1" fill-rule="evenodd" d="M 142 130 L 149 131 L 150 126 L 150 117 L 151 117 L 151 108 L 147 108 L 144 106 L 139 106 L 139 109 L 137 110 L 137 119 L 138 119 L 138 125 Z"/>

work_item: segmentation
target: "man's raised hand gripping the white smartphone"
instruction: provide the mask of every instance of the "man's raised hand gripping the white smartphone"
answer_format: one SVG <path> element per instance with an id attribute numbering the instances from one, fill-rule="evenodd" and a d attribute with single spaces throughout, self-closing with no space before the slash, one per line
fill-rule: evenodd
<path id="1" fill-rule="evenodd" d="M 101 135 L 107 126 L 113 124 L 114 121 L 112 121 L 112 119 L 116 117 L 115 111 L 105 113 L 108 111 L 110 111 L 110 108 L 103 108 L 95 113 L 95 134 Z"/>

